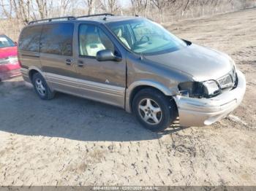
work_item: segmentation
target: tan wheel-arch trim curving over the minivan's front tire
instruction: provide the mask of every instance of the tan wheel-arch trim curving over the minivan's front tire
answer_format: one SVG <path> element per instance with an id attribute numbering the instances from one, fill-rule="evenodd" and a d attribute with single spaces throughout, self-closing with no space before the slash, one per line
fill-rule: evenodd
<path id="1" fill-rule="evenodd" d="M 132 112 L 132 106 L 130 104 L 130 97 L 132 95 L 132 91 L 135 90 L 135 88 L 139 87 L 139 86 L 154 87 L 154 88 L 161 91 L 162 93 L 164 93 L 167 96 L 172 96 L 172 95 L 177 95 L 178 94 L 178 87 L 168 88 L 165 85 L 163 85 L 162 83 L 155 82 L 153 80 L 143 79 L 143 80 L 140 80 L 140 81 L 132 82 L 132 84 L 129 85 L 129 87 L 127 88 L 126 97 L 125 97 L 125 110 L 129 113 Z"/>

